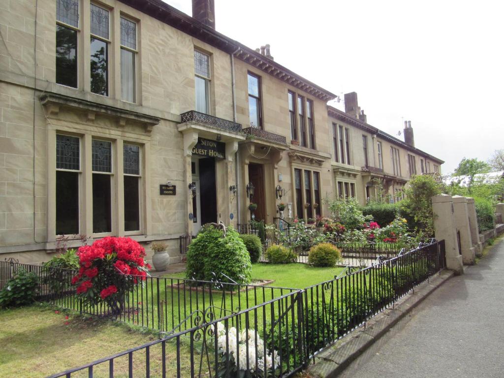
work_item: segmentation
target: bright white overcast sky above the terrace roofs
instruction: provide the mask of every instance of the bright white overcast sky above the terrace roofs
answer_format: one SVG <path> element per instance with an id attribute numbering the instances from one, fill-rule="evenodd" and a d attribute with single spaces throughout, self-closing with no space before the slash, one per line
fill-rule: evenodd
<path id="1" fill-rule="evenodd" d="M 191 15 L 191 0 L 165 0 Z M 335 94 L 453 171 L 504 148 L 504 2 L 215 0 L 216 30 Z M 342 96 L 343 97 L 343 96 Z M 343 102 L 331 103 L 344 110 Z M 401 135 L 398 135 L 398 132 Z"/>

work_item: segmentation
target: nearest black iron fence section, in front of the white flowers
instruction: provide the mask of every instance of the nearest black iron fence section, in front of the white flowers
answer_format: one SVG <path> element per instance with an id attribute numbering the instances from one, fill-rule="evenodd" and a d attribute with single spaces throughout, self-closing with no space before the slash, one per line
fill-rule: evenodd
<path id="1" fill-rule="evenodd" d="M 305 363 L 302 292 L 270 299 L 50 378 L 83 376 L 287 377 Z"/>

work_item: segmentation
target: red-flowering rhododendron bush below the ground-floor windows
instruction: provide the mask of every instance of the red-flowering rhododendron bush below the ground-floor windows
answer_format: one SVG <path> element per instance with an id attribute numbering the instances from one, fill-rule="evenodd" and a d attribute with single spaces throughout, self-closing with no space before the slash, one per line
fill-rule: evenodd
<path id="1" fill-rule="evenodd" d="M 107 236 L 77 251 L 79 273 L 72 279 L 77 294 L 89 304 L 108 304 L 112 314 L 124 307 L 124 294 L 145 280 L 145 249 L 129 237 Z"/>

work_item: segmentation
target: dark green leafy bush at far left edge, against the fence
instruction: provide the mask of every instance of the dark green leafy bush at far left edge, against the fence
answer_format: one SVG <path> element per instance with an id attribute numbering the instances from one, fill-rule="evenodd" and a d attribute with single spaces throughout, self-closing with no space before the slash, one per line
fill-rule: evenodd
<path id="1" fill-rule="evenodd" d="M 32 303 L 35 300 L 37 286 L 37 275 L 19 268 L 0 291 L 0 308 L 18 307 Z"/>

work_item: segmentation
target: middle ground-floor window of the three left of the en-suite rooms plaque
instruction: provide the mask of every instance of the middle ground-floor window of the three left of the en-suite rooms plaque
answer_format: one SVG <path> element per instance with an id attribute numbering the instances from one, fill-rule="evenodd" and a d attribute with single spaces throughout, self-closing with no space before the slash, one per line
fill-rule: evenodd
<path id="1" fill-rule="evenodd" d="M 112 143 L 93 139 L 93 233 L 112 232 Z"/>

